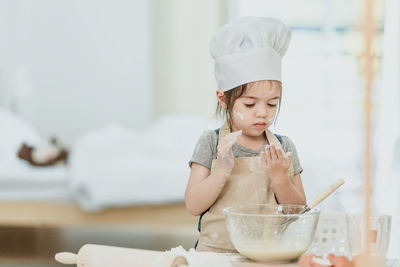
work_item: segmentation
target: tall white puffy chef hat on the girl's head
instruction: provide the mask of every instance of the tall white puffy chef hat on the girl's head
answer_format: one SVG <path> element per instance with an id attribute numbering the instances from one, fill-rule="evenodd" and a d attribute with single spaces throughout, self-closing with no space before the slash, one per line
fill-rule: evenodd
<path id="1" fill-rule="evenodd" d="M 215 78 L 222 91 L 261 81 L 281 81 L 281 58 L 290 29 L 280 20 L 241 17 L 223 26 L 211 39 Z"/>

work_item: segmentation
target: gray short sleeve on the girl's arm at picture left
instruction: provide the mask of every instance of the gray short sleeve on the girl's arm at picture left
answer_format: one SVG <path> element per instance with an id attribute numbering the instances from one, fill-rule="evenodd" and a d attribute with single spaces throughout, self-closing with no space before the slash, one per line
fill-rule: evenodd
<path id="1" fill-rule="evenodd" d="M 189 161 L 189 167 L 194 162 L 211 170 L 212 160 L 217 154 L 217 138 L 217 133 L 214 130 L 203 132 Z"/>

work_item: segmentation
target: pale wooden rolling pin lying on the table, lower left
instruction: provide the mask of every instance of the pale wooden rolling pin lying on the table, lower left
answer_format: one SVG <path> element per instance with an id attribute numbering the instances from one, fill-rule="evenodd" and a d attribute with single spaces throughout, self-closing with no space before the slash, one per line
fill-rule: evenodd
<path id="1" fill-rule="evenodd" d="M 60 252 L 56 261 L 77 267 L 187 267 L 185 257 L 162 251 L 86 244 L 78 254 Z"/>

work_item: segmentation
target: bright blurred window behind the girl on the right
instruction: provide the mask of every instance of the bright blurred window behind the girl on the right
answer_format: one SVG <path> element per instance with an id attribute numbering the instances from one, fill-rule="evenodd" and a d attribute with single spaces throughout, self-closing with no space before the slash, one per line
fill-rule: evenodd
<path id="1" fill-rule="evenodd" d="M 291 28 L 292 40 L 283 58 L 282 107 L 272 130 L 295 143 L 308 200 L 336 179 L 346 180 L 340 197 L 321 204 L 334 210 L 360 211 L 362 205 L 365 77 L 360 2 L 236 0 L 229 7 L 230 19 L 271 16 Z M 376 1 L 375 12 L 374 90 L 381 82 L 382 0 Z"/>

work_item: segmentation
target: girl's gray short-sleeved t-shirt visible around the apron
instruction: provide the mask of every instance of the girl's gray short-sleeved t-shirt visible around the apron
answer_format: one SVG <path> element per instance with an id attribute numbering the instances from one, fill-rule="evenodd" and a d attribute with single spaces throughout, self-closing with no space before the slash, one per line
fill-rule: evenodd
<path id="1" fill-rule="evenodd" d="M 189 166 L 193 162 L 200 164 L 211 170 L 211 162 L 217 158 L 217 142 L 218 135 L 214 130 L 204 131 L 199 141 L 197 142 L 196 148 L 194 149 L 193 156 L 189 161 Z M 260 152 L 265 149 L 265 145 L 259 150 L 253 150 L 250 148 L 243 147 L 237 143 L 233 144 L 232 151 L 233 156 L 238 157 L 258 157 Z M 303 169 L 300 166 L 299 157 L 297 155 L 296 147 L 293 142 L 287 136 L 282 136 L 282 148 L 285 152 L 292 152 L 292 162 L 294 174 L 301 173 Z"/>

